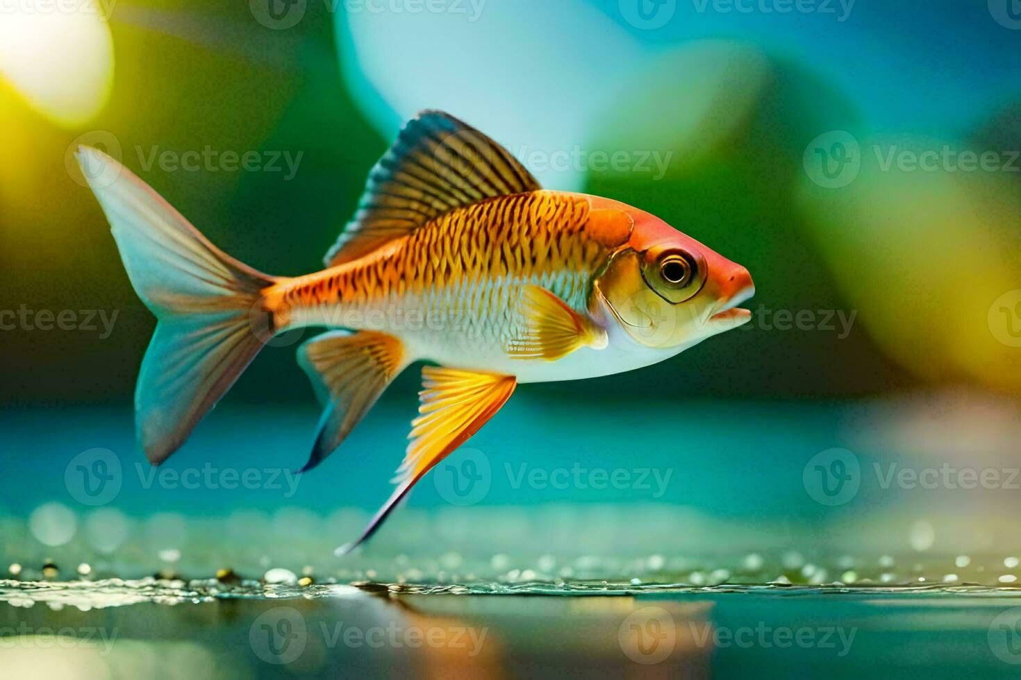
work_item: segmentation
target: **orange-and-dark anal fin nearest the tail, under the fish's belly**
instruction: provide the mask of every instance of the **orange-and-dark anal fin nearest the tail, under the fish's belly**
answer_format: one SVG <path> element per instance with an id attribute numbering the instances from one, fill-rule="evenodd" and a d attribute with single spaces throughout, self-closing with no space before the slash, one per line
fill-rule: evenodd
<path id="1" fill-rule="evenodd" d="M 339 330 L 302 345 L 298 363 L 326 406 L 304 472 L 340 446 L 407 362 L 403 345 L 392 335 Z"/>

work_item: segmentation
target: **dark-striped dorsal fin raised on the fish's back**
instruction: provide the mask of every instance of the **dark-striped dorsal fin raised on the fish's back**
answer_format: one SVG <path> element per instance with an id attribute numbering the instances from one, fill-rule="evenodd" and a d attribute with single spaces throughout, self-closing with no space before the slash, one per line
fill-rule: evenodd
<path id="1" fill-rule="evenodd" d="M 448 210 L 539 189 L 499 144 L 442 111 L 423 111 L 369 173 L 326 264 L 357 259 Z"/>

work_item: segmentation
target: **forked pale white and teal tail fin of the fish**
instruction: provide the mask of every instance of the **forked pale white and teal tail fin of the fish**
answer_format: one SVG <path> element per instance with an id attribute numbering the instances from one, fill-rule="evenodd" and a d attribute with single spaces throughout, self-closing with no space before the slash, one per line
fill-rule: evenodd
<path id="1" fill-rule="evenodd" d="M 159 319 L 135 389 L 138 436 L 149 461 L 159 464 L 271 337 L 259 302 L 278 279 L 220 251 L 109 156 L 83 147 L 78 160 L 132 285 Z"/>

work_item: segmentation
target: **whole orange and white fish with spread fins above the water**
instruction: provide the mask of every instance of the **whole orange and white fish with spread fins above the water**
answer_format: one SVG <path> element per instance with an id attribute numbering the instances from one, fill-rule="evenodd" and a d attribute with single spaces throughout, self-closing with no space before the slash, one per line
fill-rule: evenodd
<path id="1" fill-rule="evenodd" d="M 297 353 L 323 403 L 302 472 L 423 362 L 393 492 L 337 555 L 368 540 L 518 384 L 649 366 L 750 318 L 738 307 L 755 293 L 745 267 L 638 208 L 543 189 L 505 148 L 442 111 L 404 126 L 325 268 L 300 276 L 241 263 L 115 159 L 89 147 L 77 156 L 157 318 L 135 390 L 153 465 L 279 333 L 326 329 Z"/>

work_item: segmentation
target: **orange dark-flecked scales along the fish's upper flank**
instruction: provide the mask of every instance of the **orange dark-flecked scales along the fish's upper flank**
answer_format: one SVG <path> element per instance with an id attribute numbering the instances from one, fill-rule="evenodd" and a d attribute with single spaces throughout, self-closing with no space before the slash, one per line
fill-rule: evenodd
<path id="1" fill-rule="evenodd" d="M 328 325 L 344 312 L 384 309 L 485 318 L 529 282 L 583 312 L 588 279 L 606 257 L 605 247 L 585 236 L 588 212 L 585 201 L 545 191 L 455 209 L 383 252 L 285 283 L 274 312 L 286 325 L 277 328 Z M 404 286 L 399 294 L 397 281 Z M 501 292 L 497 299 L 471 295 L 487 282 Z M 501 321 L 513 325 L 515 318 Z M 487 339 L 514 328 L 493 330 Z"/>

